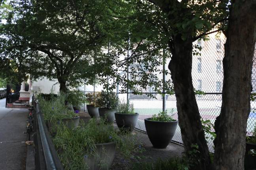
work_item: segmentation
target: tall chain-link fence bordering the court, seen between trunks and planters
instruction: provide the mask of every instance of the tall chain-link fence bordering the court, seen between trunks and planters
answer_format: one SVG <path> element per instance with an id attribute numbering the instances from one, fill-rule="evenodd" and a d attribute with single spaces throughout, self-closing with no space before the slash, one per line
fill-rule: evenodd
<path id="1" fill-rule="evenodd" d="M 201 46 L 200 55 L 194 55 L 192 60 L 192 81 L 194 88 L 205 92 L 204 95 L 196 95 L 198 108 L 203 120 L 210 120 L 214 124 L 216 117 L 220 114 L 222 104 L 222 84 L 223 84 L 223 65 L 224 35 L 209 35 L 207 41 L 196 41 L 194 46 Z M 256 92 L 256 50 L 254 50 L 254 60 L 252 68 L 252 92 Z M 167 61 L 168 63 L 169 61 Z M 159 77 L 161 78 L 161 74 Z M 166 81 L 171 79 L 166 76 Z M 151 88 L 149 88 L 151 89 Z M 134 104 L 136 113 L 139 113 L 137 129 L 146 131 L 144 119 L 163 110 L 163 96 L 155 92 L 144 91 L 142 95 L 130 94 L 130 103 Z M 148 94 L 154 97 L 149 97 Z M 119 94 L 119 98 L 126 98 L 126 94 Z M 177 119 L 177 107 L 175 95 L 165 95 L 166 111 L 173 118 Z M 256 125 L 256 102 L 251 102 L 251 112 L 247 121 L 247 135 L 252 135 Z M 214 131 L 213 127 L 212 130 Z M 214 152 L 214 144 L 211 136 L 206 134 L 209 150 Z M 172 139 L 174 142 L 183 143 L 179 126 Z"/>

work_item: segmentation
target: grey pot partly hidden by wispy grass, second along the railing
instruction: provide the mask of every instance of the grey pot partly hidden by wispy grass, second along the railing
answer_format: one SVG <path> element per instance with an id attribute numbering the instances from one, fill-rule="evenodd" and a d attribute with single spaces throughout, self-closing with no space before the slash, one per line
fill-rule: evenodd
<path id="1" fill-rule="evenodd" d="M 67 126 L 69 129 L 73 129 L 74 127 L 77 127 L 79 124 L 79 119 L 80 116 L 76 116 L 74 118 L 67 118 L 67 119 L 62 119 L 61 121 L 65 126 Z M 60 121 L 57 121 L 57 124 L 60 124 Z M 51 121 L 47 121 L 47 126 L 49 130 L 51 131 L 52 134 L 57 133 L 57 127 L 54 126 Z"/>

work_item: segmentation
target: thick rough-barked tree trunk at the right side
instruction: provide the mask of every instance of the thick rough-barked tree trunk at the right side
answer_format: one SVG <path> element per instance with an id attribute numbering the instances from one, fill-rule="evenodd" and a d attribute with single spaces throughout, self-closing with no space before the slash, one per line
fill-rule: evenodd
<path id="1" fill-rule="evenodd" d="M 256 41 L 256 0 L 233 0 L 223 59 L 220 116 L 215 121 L 215 169 L 243 170 L 250 113 L 252 58 Z"/>

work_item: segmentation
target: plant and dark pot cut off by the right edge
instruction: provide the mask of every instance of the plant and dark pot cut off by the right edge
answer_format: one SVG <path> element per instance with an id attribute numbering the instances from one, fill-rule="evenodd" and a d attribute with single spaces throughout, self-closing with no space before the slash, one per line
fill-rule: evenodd
<path id="1" fill-rule="evenodd" d="M 245 170 L 256 169 L 256 124 L 252 136 L 247 137 L 245 146 Z"/>

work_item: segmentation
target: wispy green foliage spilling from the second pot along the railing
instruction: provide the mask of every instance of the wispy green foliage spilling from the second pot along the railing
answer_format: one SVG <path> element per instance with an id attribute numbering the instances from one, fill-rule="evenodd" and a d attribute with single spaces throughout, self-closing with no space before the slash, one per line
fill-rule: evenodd
<path id="1" fill-rule="evenodd" d="M 77 116 L 65 105 L 66 94 L 60 93 L 56 97 L 53 97 L 54 94 L 51 95 L 50 100 L 45 100 L 42 95 L 38 95 L 40 109 L 43 113 L 44 120 L 49 120 L 51 123 L 56 123 L 58 120 L 74 118 Z"/>

